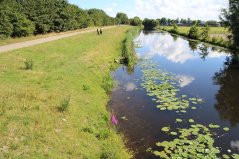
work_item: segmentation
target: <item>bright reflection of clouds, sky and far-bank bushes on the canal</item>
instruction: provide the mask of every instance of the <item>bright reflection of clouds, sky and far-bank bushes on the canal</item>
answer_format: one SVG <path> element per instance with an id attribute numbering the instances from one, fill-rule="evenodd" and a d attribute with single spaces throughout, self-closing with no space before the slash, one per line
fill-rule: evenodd
<path id="1" fill-rule="evenodd" d="M 162 36 L 159 36 L 162 35 Z M 152 59 L 156 56 L 165 57 L 175 64 L 184 64 L 190 60 L 219 58 L 225 56 L 225 50 L 216 47 L 209 47 L 199 41 L 189 40 L 188 42 L 175 35 L 165 33 L 150 33 L 148 31 L 140 34 L 135 41 L 140 41 L 144 46 L 138 52 L 140 58 Z M 196 54 L 193 54 L 196 52 Z M 220 53 L 222 52 L 222 53 Z"/>

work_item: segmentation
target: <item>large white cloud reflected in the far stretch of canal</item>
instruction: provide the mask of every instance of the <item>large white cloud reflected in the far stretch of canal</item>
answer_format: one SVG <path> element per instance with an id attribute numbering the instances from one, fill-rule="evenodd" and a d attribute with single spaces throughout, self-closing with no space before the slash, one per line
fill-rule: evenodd
<path id="1" fill-rule="evenodd" d="M 142 58 L 150 59 L 159 55 L 174 63 L 181 64 L 188 60 L 200 59 L 198 54 L 192 52 L 186 40 L 178 38 L 175 41 L 170 34 L 152 33 L 150 35 L 144 35 L 141 33 L 136 41 L 141 41 L 142 45 L 147 49 L 144 53 L 139 55 L 139 57 Z M 211 49 L 209 52 L 209 58 L 220 58 L 225 56 L 224 53 L 212 51 Z"/>

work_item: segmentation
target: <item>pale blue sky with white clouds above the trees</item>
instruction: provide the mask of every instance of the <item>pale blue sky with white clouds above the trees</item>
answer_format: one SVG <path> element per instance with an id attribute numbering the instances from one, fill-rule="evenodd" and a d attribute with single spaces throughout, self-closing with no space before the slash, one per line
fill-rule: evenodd
<path id="1" fill-rule="evenodd" d="M 130 18 L 191 18 L 219 20 L 228 0 L 68 0 L 83 9 L 98 8 L 115 17 L 124 12 Z"/>

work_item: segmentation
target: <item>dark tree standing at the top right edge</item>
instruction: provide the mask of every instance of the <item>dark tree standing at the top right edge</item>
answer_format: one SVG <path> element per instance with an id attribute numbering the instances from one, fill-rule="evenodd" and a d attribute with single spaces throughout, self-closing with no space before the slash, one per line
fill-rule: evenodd
<path id="1" fill-rule="evenodd" d="M 229 8 L 222 10 L 220 19 L 229 27 L 233 35 L 234 45 L 239 48 L 239 0 L 229 0 Z"/>

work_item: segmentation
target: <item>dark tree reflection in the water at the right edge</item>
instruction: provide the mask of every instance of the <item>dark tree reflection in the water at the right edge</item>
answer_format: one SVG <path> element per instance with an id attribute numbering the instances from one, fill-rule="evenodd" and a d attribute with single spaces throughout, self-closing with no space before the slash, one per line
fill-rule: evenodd
<path id="1" fill-rule="evenodd" d="M 235 127 L 239 123 L 239 56 L 227 58 L 224 68 L 215 73 L 213 80 L 220 85 L 215 107 L 220 117 Z"/>

